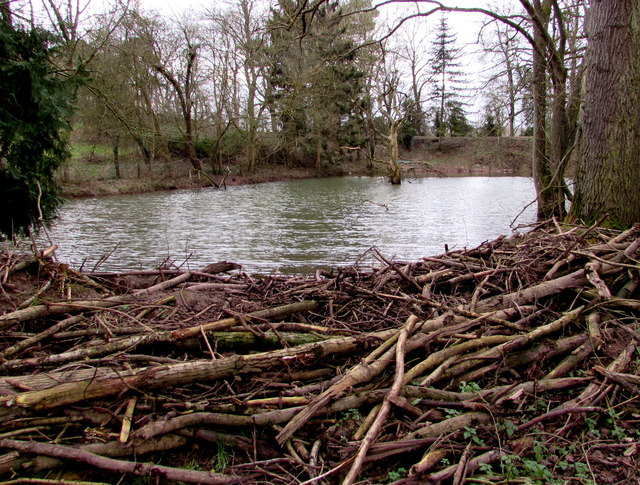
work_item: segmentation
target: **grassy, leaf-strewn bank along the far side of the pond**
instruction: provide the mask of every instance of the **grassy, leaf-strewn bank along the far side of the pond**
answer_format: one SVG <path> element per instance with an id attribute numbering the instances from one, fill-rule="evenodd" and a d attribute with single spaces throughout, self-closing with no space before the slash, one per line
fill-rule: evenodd
<path id="1" fill-rule="evenodd" d="M 365 160 L 313 167 L 258 165 L 255 173 L 243 170 L 243 163 L 228 160 L 226 175 L 216 175 L 204 161 L 207 175 L 195 172 L 187 160 L 170 159 L 145 164 L 137 152 L 119 153 L 119 176 L 112 150 L 105 145 L 76 143 L 71 161 L 58 173 L 66 197 L 91 197 L 208 187 L 215 184 L 242 185 L 299 178 L 341 175 L 384 175 L 384 166 L 369 166 Z M 468 174 L 530 175 L 529 138 L 445 138 L 416 137 L 411 150 L 400 153 L 406 177 Z"/>

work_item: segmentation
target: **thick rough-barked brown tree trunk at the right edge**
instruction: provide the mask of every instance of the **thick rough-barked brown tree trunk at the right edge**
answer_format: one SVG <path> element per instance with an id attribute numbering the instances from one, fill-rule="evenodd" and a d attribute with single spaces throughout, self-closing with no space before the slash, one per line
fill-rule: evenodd
<path id="1" fill-rule="evenodd" d="M 583 136 L 572 213 L 640 221 L 640 2 L 593 0 Z"/>

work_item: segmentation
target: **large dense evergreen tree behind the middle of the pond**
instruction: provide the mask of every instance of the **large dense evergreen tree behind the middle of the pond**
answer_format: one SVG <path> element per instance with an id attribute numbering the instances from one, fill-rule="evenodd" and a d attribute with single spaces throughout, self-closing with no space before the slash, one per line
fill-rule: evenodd
<path id="1" fill-rule="evenodd" d="M 267 104 L 285 146 L 304 147 L 297 155 L 319 168 L 339 153 L 342 134 L 353 138 L 361 123 L 354 100 L 364 73 L 338 2 L 319 6 L 312 22 L 299 3 L 280 0 L 271 14 Z"/>

